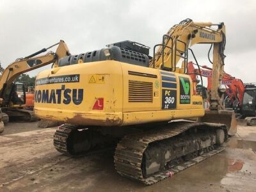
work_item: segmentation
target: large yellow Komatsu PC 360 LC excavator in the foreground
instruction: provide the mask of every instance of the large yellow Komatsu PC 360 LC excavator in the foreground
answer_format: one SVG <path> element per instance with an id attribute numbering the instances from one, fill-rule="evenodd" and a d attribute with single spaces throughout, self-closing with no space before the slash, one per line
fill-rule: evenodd
<path id="1" fill-rule="evenodd" d="M 186 74 L 194 44 L 214 47 L 207 116 Z M 65 56 L 36 77 L 35 114 L 66 122 L 54 134 L 59 152 L 79 156 L 118 141 L 116 171 L 154 184 L 221 152 L 228 132 L 236 132 L 234 112 L 223 111 L 218 91 L 224 49 L 223 23 L 186 19 L 163 35 L 153 58 L 149 47 L 130 41 Z"/>

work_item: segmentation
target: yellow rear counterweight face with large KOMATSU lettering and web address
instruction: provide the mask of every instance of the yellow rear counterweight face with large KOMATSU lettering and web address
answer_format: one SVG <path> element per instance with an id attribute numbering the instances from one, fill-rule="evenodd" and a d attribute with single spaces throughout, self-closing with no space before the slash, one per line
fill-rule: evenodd
<path id="1" fill-rule="evenodd" d="M 89 77 L 104 77 L 104 83 L 90 83 Z M 89 79 L 89 81 L 88 81 Z M 99 81 L 99 78 L 97 78 Z M 38 74 L 35 88 L 35 113 L 44 118 L 47 111 L 67 110 L 64 119 L 72 119 L 76 113 L 122 112 L 122 69 L 116 61 L 81 63 L 60 67 L 52 74 L 45 70 Z M 104 99 L 102 110 L 93 109 L 98 99 Z M 100 104 L 99 104 L 100 105 Z M 42 109 L 45 109 L 42 113 Z M 60 118 L 60 116 L 59 116 Z M 95 116 L 93 117 L 95 118 Z M 85 120 L 85 124 L 88 120 Z"/>

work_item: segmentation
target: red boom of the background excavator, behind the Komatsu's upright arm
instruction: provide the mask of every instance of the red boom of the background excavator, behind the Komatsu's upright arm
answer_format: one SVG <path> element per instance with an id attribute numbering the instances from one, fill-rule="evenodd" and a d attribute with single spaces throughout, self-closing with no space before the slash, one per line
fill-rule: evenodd
<path id="1" fill-rule="evenodd" d="M 204 69 L 196 69 L 194 67 L 194 63 L 192 61 L 188 62 L 188 74 L 191 76 L 193 84 L 194 84 L 194 93 L 196 93 L 196 84 L 198 83 L 198 80 L 196 79 L 196 76 L 207 77 L 207 90 L 211 91 L 211 78 L 212 78 L 212 68 L 209 68 L 205 65 L 201 66 Z M 236 77 L 232 77 L 229 74 L 225 73 L 223 74 L 223 78 L 221 81 L 221 84 L 223 84 L 226 88 L 226 93 L 228 95 L 228 98 L 233 103 L 235 100 L 238 101 L 238 105 L 241 107 L 243 95 L 244 95 L 244 84 L 241 79 L 236 79 Z"/>

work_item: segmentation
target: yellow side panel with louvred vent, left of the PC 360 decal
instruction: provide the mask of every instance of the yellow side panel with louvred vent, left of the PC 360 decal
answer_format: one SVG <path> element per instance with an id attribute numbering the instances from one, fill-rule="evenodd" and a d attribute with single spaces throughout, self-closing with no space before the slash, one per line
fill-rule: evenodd
<path id="1" fill-rule="evenodd" d="M 161 80 L 159 70 L 122 63 L 124 78 L 124 108 L 128 111 L 160 109 Z"/>

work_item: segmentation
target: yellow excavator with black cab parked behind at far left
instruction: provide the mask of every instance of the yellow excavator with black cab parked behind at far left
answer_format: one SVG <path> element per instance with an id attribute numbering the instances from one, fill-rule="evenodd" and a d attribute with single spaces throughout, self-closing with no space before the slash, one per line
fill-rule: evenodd
<path id="1" fill-rule="evenodd" d="M 56 52 L 48 52 L 45 55 L 37 56 L 38 54 L 51 49 L 58 45 Z M 26 91 L 22 83 L 15 82 L 15 79 L 25 72 L 29 72 L 39 67 L 44 67 L 53 63 L 58 65 L 58 58 L 69 55 L 67 45 L 62 40 L 58 44 L 44 48 L 25 58 L 19 58 L 1 70 L 0 76 L 0 106 L 1 106 L 1 128 L 0 133 L 4 131 L 4 124 L 11 118 L 20 118 L 27 121 L 36 120 L 32 110 L 25 109 L 26 107 Z M 4 123 L 4 124 L 3 124 Z"/>

